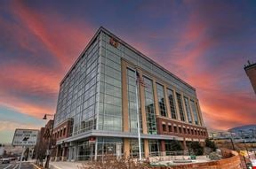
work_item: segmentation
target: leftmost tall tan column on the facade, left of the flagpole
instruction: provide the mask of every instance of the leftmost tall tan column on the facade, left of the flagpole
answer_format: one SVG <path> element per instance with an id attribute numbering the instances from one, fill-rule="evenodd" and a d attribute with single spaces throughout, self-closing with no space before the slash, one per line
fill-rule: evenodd
<path id="1" fill-rule="evenodd" d="M 129 132 L 129 112 L 128 112 L 128 96 L 127 96 L 127 63 L 121 60 L 122 67 L 122 109 L 123 109 L 123 131 Z"/>

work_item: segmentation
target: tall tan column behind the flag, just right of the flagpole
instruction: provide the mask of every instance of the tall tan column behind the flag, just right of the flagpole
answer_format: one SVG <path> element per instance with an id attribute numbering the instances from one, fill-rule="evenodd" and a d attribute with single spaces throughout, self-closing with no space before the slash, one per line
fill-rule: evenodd
<path id="1" fill-rule="evenodd" d="M 138 72 L 140 74 L 140 80 L 143 80 L 142 71 L 139 70 Z M 140 84 L 139 88 L 140 88 L 140 111 L 141 111 L 141 119 L 142 119 L 142 133 L 148 134 L 147 117 L 146 117 L 146 109 L 145 109 L 145 91 L 144 91 L 145 87 Z"/>

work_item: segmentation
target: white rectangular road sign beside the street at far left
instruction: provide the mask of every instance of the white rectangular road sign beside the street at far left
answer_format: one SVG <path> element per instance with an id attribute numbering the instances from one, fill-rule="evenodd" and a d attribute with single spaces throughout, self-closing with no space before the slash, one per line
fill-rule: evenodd
<path id="1" fill-rule="evenodd" d="M 38 130 L 17 128 L 12 139 L 12 145 L 35 146 L 37 135 Z"/>

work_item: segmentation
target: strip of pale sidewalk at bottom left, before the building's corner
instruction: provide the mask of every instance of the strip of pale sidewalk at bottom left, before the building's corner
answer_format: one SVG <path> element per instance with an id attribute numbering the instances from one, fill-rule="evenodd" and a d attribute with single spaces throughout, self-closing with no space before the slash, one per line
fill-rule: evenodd
<path id="1" fill-rule="evenodd" d="M 50 161 L 50 169 L 78 169 L 78 166 L 82 166 L 82 162 L 52 162 Z"/>

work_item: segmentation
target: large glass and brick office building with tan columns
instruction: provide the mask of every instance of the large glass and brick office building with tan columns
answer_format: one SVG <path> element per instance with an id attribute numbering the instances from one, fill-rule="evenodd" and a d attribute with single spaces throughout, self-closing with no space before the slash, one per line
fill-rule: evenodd
<path id="1" fill-rule="evenodd" d="M 138 127 L 143 157 L 207 135 L 196 89 L 100 27 L 60 82 L 56 160 L 137 157 Z"/>

